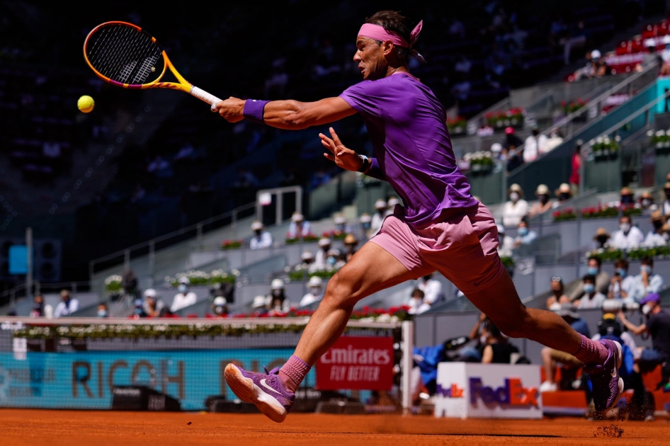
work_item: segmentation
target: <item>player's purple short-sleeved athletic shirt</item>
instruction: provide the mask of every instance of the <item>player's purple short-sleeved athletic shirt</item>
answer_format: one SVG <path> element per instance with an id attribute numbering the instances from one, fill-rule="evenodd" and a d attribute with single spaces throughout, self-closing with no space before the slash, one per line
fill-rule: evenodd
<path id="1" fill-rule="evenodd" d="M 377 155 L 368 175 L 391 183 L 412 227 L 428 226 L 445 209 L 477 205 L 456 166 L 444 107 L 419 79 L 392 74 L 353 85 L 340 97 L 368 127 Z"/>

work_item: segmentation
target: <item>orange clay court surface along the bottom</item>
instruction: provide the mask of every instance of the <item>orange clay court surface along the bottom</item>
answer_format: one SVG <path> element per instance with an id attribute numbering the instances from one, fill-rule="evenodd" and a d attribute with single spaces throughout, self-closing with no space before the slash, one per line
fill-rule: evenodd
<path id="1" fill-rule="evenodd" d="M 620 438 L 594 437 L 599 427 Z M 0 409 L 0 445 L 669 445 L 667 421 L 453 420 L 431 416 L 262 415 Z"/>

